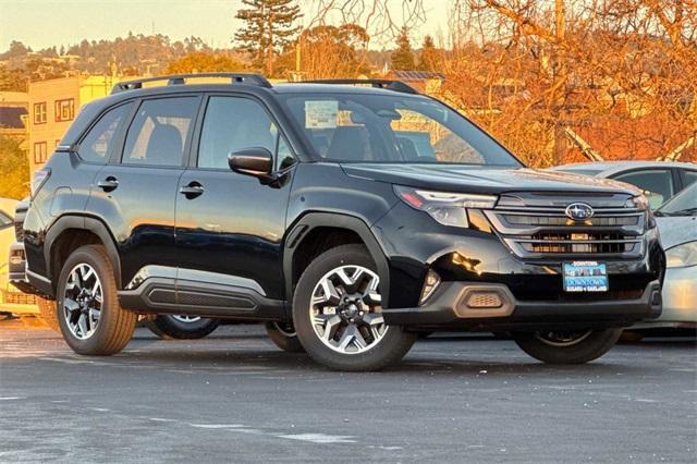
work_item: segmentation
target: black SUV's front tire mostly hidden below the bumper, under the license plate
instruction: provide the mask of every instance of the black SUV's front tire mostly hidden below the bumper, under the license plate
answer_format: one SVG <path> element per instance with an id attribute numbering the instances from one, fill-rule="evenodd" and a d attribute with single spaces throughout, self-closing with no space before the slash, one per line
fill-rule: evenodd
<path id="1" fill-rule="evenodd" d="M 516 332 L 513 340 L 524 352 L 543 363 L 584 364 L 609 352 L 621 333 L 622 329 Z"/>

